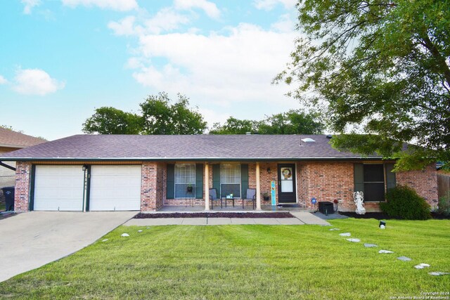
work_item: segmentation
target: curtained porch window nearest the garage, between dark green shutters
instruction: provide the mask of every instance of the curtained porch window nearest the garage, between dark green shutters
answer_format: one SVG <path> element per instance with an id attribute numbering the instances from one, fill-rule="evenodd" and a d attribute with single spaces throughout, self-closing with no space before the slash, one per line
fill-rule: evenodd
<path id="1" fill-rule="evenodd" d="M 193 197 L 195 197 L 195 164 L 175 164 L 175 198 Z"/>

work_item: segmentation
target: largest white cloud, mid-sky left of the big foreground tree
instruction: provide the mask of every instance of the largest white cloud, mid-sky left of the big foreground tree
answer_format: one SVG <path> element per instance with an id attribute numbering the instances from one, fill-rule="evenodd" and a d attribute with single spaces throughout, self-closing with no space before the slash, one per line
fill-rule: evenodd
<path id="1" fill-rule="evenodd" d="M 133 76 L 143 86 L 185 93 L 221 107 L 255 101 L 282 103 L 287 88 L 271 85 L 271 80 L 288 62 L 294 39 L 295 32 L 249 24 L 231 28 L 228 35 L 142 35 L 141 56 L 164 58 L 167 63 L 140 67 Z"/>

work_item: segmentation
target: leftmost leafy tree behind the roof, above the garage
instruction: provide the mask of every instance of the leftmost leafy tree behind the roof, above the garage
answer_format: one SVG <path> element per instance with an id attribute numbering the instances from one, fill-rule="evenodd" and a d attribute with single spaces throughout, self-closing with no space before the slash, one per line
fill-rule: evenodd
<path id="1" fill-rule="evenodd" d="M 83 132 L 100 134 L 139 134 L 142 118 L 114 107 L 100 107 L 83 123 Z"/>

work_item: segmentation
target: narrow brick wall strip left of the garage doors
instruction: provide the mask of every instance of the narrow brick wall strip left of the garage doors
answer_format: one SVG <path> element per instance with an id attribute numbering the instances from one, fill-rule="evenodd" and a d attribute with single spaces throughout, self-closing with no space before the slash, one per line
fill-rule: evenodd
<path id="1" fill-rule="evenodd" d="M 17 162 L 15 165 L 14 210 L 28 211 L 30 201 L 31 162 Z"/>

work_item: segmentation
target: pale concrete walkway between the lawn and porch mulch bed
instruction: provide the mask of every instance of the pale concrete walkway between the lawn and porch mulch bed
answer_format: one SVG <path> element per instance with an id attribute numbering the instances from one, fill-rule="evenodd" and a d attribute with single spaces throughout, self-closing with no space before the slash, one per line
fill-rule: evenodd
<path id="1" fill-rule="evenodd" d="M 309 212 L 290 212 L 295 218 L 165 218 L 131 219 L 124 226 L 162 225 L 321 225 L 330 226 L 325 220 Z"/>

